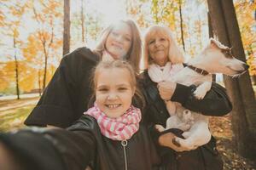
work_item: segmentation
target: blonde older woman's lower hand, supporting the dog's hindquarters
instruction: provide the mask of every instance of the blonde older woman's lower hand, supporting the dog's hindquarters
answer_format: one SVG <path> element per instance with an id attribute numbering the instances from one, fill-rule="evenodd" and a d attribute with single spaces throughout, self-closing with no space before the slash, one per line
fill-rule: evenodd
<path id="1" fill-rule="evenodd" d="M 177 152 L 190 150 L 189 148 L 183 148 L 181 146 L 178 147 L 177 145 L 173 144 L 172 141 L 175 140 L 176 138 L 177 138 L 177 136 L 175 136 L 175 134 L 173 134 L 173 133 L 165 133 L 165 134 L 160 135 L 158 142 L 160 145 L 169 147 L 172 150 L 175 150 Z"/>

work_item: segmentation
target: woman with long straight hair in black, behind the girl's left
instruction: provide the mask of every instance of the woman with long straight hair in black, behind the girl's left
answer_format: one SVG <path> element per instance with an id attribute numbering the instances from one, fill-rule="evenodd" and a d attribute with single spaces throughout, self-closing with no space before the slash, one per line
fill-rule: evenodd
<path id="1" fill-rule="evenodd" d="M 141 51 L 141 37 L 134 21 L 119 20 L 108 26 L 94 50 L 78 48 L 61 59 L 54 77 L 25 124 L 41 127 L 72 125 L 87 109 L 92 93 L 90 73 L 96 63 L 107 59 L 125 59 L 138 72 Z"/>

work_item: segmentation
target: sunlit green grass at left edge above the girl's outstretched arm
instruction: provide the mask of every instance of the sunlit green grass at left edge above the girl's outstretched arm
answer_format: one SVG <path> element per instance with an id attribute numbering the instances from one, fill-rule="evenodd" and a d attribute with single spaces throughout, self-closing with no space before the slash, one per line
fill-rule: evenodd
<path id="1" fill-rule="evenodd" d="M 2 111 L 0 113 L 0 132 L 7 132 L 25 127 L 23 122 L 32 111 L 33 107 L 34 105 L 26 105 L 21 108 Z"/>

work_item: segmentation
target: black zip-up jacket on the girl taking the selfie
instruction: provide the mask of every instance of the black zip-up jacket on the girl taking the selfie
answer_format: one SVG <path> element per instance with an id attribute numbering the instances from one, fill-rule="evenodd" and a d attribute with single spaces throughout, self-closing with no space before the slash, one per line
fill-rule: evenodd
<path id="1" fill-rule="evenodd" d="M 84 170 L 88 165 L 94 170 L 125 170 L 125 159 L 128 170 L 163 169 L 142 123 L 125 148 L 121 141 L 103 136 L 91 116 L 82 116 L 67 130 L 23 130 L 15 135 L 0 134 L 0 141 L 26 158 L 24 162 L 29 170 Z"/>

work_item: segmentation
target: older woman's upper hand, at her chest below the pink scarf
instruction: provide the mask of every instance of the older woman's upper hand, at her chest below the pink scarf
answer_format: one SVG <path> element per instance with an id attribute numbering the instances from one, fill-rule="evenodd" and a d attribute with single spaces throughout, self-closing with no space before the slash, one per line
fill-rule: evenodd
<path id="1" fill-rule="evenodd" d="M 159 82 L 158 90 L 161 99 L 170 100 L 176 88 L 176 82 Z"/>

